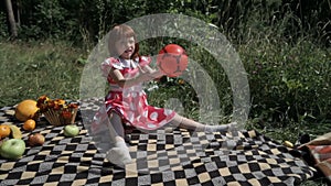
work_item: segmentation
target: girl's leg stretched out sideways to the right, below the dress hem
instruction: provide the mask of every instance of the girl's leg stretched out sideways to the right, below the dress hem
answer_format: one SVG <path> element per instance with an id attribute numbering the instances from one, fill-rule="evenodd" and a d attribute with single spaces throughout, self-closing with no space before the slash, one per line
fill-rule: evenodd
<path id="1" fill-rule="evenodd" d="M 200 122 L 196 122 L 194 120 L 184 118 L 182 116 L 175 114 L 173 120 L 171 121 L 174 125 L 178 125 L 183 129 L 188 130 L 195 130 L 197 132 L 226 132 L 231 124 L 222 124 L 222 125 L 209 125 L 209 124 L 202 124 Z"/>

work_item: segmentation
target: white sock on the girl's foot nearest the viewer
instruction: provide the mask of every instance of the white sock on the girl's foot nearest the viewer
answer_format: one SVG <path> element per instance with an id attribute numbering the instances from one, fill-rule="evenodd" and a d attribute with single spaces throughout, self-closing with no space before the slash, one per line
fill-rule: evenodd
<path id="1" fill-rule="evenodd" d="M 118 166 L 124 166 L 132 162 L 129 149 L 124 141 L 116 142 L 115 147 L 111 147 L 106 153 L 106 158 Z"/>

